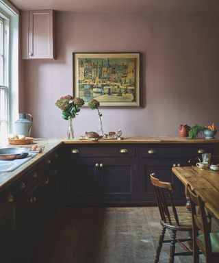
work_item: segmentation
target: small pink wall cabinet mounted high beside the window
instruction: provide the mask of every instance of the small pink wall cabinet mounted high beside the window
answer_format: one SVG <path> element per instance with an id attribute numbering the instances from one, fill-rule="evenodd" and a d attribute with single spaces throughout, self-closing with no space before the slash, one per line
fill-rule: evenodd
<path id="1" fill-rule="evenodd" d="M 22 58 L 55 59 L 53 10 L 23 11 L 21 21 Z"/>

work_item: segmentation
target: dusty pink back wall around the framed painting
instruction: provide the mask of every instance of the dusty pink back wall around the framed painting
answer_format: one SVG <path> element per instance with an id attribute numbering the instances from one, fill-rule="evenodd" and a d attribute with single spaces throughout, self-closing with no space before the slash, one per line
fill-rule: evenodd
<path id="1" fill-rule="evenodd" d="M 74 13 L 55 16 L 57 60 L 25 60 L 22 110 L 32 136 L 65 137 L 55 100 L 73 92 L 73 52 L 142 52 L 142 108 L 103 108 L 104 131 L 175 136 L 181 123 L 219 128 L 219 15 Z M 96 130 L 97 112 L 82 108 L 75 135 Z"/>

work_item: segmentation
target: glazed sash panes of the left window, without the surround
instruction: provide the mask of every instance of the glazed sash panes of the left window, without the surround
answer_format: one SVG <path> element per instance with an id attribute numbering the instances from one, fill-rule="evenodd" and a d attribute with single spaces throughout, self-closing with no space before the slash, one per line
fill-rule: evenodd
<path id="1" fill-rule="evenodd" d="M 0 13 L 0 140 L 8 134 L 8 19 Z"/>

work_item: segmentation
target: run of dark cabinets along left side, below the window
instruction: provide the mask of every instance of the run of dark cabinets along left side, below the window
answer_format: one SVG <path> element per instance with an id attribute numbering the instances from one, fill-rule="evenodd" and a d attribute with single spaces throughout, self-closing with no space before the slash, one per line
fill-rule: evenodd
<path id="1" fill-rule="evenodd" d="M 57 153 L 51 153 L 0 196 L 0 255 L 4 263 L 31 260 L 57 208 Z"/>

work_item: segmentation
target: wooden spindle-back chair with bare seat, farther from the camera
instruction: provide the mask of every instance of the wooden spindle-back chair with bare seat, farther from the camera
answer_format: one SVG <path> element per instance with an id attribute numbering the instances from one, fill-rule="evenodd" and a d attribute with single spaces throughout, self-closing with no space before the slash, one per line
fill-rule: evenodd
<path id="1" fill-rule="evenodd" d="M 159 181 L 155 174 L 151 174 L 151 183 L 155 188 L 155 195 L 157 199 L 157 206 L 161 216 L 160 223 L 162 231 L 159 236 L 157 252 L 155 255 L 155 263 L 159 262 L 159 254 L 163 243 L 170 242 L 170 259 L 172 263 L 175 260 L 175 255 L 192 255 L 190 248 L 185 246 L 183 242 L 191 241 L 191 238 L 177 238 L 177 231 L 192 231 L 192 215 L 190 213 L 177 213 L 175 204 L 172 198 L 172 184 L 164 181 Z M 170 207 L 168 207 L 170 205 Z M 164 240 L 166 229 L 172 231 L 170 240 Z M 183 252 L 175 252 L 176 243 L 185 250 Z"/>

